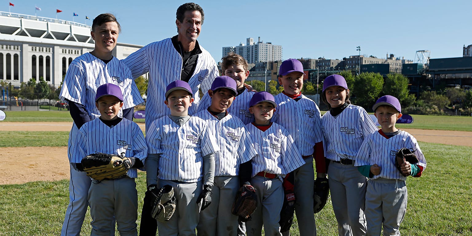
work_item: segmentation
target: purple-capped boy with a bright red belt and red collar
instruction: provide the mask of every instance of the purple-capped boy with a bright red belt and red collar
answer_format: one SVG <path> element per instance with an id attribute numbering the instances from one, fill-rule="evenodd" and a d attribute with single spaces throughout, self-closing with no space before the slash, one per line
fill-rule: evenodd
<path id="1" fill-rule="evenodd" d="M 246 127 L 259 155 L 253 158 L 251 179 L 258 204 L 252 219 L 246 222 L 247 235 L 261 235 L 262 224 L 265 235 L 282 235 L 278 223 L 284 202 L 281 180 L 305 163 L 288 131 L 270 122 L 277 106 L 274 96 L 267 92 L 255 93 L 249 106 L 254 122 Z M 295 201 L 293 194 L 286 198 Z"/>

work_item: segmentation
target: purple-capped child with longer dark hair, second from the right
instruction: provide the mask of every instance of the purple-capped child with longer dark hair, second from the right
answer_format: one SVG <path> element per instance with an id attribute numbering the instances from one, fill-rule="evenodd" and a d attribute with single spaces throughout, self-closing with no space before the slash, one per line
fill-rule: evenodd
<path id="1" fill-rule="evenodd" d="M 354 166 L 354 160 L 362 141 L 378 128 L 362 107 L 351 104 L 343 76 L 326 77 L 321 98 L 330 107 L 321 123 L 324 151 L 330 160 L 329 191 L 338 234 L 363 236 L 366 178 Z"/>

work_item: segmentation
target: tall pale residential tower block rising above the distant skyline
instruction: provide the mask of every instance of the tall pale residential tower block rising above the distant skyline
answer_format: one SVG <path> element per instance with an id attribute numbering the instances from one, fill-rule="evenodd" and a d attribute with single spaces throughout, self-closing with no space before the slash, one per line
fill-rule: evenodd
<path id="1" fill-rule="evenodd" d="M 230 52 L 241 55 L 247 60 L 247 63 L 253 64 L 282 59 L 282 46 L 274 45 L 271 42 L 262 42 L 261 37 L 257 42 L 254 42 L 253 38 L 247 38 L 246 45 L 241 42 L 239 46 L 223 47 L 222 57 L 226 57 Z"/>

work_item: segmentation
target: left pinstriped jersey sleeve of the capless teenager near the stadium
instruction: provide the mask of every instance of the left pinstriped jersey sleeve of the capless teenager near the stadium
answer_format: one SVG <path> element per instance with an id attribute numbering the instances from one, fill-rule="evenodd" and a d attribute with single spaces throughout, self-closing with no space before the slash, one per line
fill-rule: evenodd
<path id="1" fill-rule="evenodd" d="M 84 68 L 77 64 L 75 60 L 72 61 L 64 77 L 62 89 L 59 93 L 59 100 L 69 100 L 85 105 L 84 100 L 87 98 L 85 81 Z"/>

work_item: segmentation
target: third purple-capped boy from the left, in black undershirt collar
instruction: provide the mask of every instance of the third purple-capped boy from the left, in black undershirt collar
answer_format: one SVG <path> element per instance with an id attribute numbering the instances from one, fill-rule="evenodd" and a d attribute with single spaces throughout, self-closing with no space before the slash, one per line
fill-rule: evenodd
<path id="1" fill-rule="evenodd" d="M 198 235 L 237 235 L 238 217 L 231 214 L 231 207 L 239 187 L 250 185 L 250 160 L 257 154 L 244 123 L 228 112 L 234 104 L 236 90 L 233 78 L 216 77 L 208 90 L 210 107 L 194 115 L 207 122 L 211 135 L 216 136 L 220 150 L 215 153 L 212 204 L 207 210 L 200 212 Z"/>

